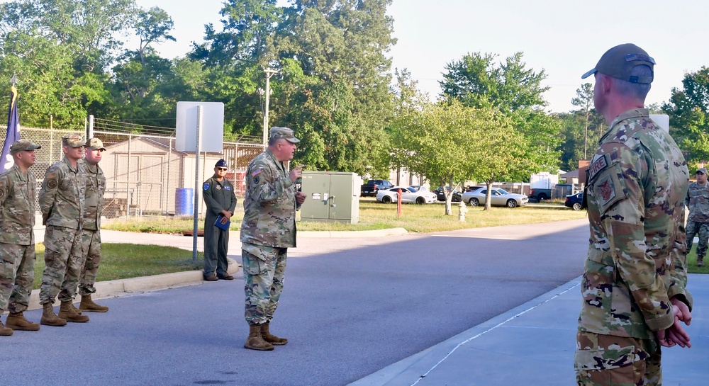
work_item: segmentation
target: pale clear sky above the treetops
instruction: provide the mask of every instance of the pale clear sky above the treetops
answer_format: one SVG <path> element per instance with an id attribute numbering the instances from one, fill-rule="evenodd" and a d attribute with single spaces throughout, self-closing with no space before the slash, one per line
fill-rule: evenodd
<path id="1" fill-rule="evenodd" d="M 203 25 L 220 28 L 221 0 L 137 0 L 160 6 L 174 21 L 177 42 L 157 47 L 166 57 L 184 55 L 201 42 Z M 281 0 L 280 4 L 286 4 Z M 646 103 L 667 101 L 686 72 L 709 66 L 709 1 L 623 0 L 393 0 L 393 68 L 407 68 L 420 89 L 440 93 L 445 64 L 468 52 L 489 52 L 499 61 L 523 52 L 528 69 L 547 74 L 548 110 L 574 109 L 571 98 L 603 52 L 632 42 L 654 57 L 655 80 Z"/>

